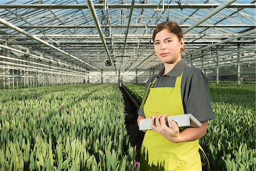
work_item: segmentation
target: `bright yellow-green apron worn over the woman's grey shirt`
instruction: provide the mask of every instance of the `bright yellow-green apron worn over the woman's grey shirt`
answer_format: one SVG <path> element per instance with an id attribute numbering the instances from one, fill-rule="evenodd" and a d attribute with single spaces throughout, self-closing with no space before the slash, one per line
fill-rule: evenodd
<path id="1" fill-rule="evenodd" d="M 175 87 L 147 87 L 141 107 L 146 117 L 151 115 L 183 115 L 181 76 Z M 150 93 L 148 93 L 150 89 Z M 157 132 L 148 130 L 141 148 L 141 170 L 202 170 L 199 140 L 172 143 Z"/>

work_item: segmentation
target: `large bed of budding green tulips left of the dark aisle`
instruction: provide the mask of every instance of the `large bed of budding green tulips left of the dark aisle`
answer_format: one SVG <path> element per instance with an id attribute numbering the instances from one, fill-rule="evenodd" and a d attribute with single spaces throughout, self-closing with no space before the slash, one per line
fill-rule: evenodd
<path id="1" fill-rule="evenodd" d="M 0 91 L 0 170 L 134 170 L 117 85 Z"/>

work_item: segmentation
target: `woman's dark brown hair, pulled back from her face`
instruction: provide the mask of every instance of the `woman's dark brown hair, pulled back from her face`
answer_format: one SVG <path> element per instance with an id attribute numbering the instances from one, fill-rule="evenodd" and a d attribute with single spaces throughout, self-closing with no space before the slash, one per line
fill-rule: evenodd
<path id="1" fill-rule="evenodd" d="M 166 21 L 166 22 L 158 24 L 155 27 L 153 37 L 152 37 L 153 41 L 155 41 L 155 35 L 164 29 L 167 29 L 170 33 L 175 34 L 179 40 L 181 40 L 181 38 L 183 38 L 183 33 L 181 31 L 179 24 L 174 21 Z M 184 47 L 181 48 L 181 52 L 182 51 L 184 51 Z"/>

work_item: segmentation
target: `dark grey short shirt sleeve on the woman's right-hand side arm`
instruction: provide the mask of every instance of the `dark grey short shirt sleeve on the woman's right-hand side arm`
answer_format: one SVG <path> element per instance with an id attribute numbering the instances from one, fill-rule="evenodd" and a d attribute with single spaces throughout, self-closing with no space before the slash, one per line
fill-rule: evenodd
<path id="1" fill-rule="evenodd" d="M 184 106 L 187 114 L 192 114 L 200 122 L 215 118 L 210 105 L 208 82 L 201 70 L 194 70 L 185 91 Z"/>

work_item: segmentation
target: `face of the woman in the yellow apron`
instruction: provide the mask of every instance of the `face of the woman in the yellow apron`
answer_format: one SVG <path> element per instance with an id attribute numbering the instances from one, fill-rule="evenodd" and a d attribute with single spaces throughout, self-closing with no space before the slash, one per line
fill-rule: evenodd
<path id="1" fill-rule="evenodd" d="M 158 59 L 165 64 L 175 64 L 181 60 L 181 47 L 184 45 L 184 39 L 178 39 L 175 34 L 167 29 L 158 32 L 155 35 L 155 53 Z"/>

